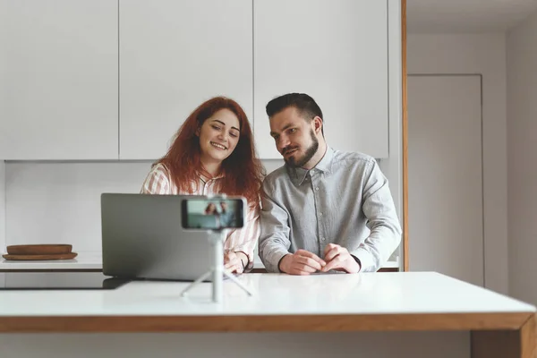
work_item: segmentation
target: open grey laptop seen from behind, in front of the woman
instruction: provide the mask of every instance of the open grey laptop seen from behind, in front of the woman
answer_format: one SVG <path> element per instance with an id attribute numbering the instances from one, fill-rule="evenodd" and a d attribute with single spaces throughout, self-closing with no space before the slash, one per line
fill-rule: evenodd
<path id="1" fill-rule="evenodd" d="M 101 194 L 103 274 L 194 281 L 212 266 L 207 232 L 181 224 L 186 195 Z"/>

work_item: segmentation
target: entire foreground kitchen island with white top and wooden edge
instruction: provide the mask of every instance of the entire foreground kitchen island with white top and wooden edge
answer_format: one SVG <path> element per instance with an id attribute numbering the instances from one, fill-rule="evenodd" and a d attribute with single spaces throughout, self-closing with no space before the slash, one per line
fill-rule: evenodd
<path id="1" fill-rule="evenodd" d="M 210 301 L 209 283 L 187 297 L 180 294 L 188 283 L 170 281 L 135 281 L 114 290 L 0 291 L 0 333 L 11 333 L 0 334 L 0 345 L 15 356 L 46 357 L 105 356 L 109 349 L 136 357 L 149 352 L 216 356 L 218 350 L 226 356 L 263 352 L 260 357 L 269 357 L 285 355 L 286 349 L 300 349 L 300 357 L 349 356 L 356 345 L 365 354 L 359 356 L 368 357 L 533 357 L 533 305 L 438 273 L 245 274 L 239 279 L 253 296 L 226 281 L 223 303 Z M 457 330 L 471 334 L 449 333 Z M 445 333 L 437 339 L 409 336 L 409 331 Z M 49 335 L 24 338 L 38 332 Z M 94 335 L 73 336 L 76 332 Z M 107 336 L 118 332 L 136 336 Z M 140 335 L 158 332 L 165 335 Z M 170 336 L 173 332 L 183 336 Z M 248 332 L 256 335 L 245 336 Z M 118 339 L 124 344 L 110 348 Z M 389 345 L 381 343 L 387 339 Z M 58 350 L 60 342 L 69 348 Z M 217 351 L 208 342 L 217 342 Z M 401 355 L 403 350 L 409 355 Z"/>

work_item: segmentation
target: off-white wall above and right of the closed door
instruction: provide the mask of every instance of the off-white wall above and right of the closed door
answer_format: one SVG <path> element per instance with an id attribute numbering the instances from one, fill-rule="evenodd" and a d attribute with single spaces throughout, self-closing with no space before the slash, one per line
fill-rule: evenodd
<path id="1" fill-rule="evenodd" d="M 507 294 L 506 37 L 408 34 L 407 41 L 408 73 L 482 74 L 485 286 Z"/>

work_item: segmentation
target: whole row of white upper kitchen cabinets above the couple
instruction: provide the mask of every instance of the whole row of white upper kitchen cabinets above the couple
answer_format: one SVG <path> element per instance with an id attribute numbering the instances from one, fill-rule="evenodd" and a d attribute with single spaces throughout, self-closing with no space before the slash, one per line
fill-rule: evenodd
<path id="1" fill-rule="evenodd" d="M 281 158 L 265 106 L 292 91 L 319 102 L 329 145 L 388 158 L 388 0 L 0 6 L 2 159 L 160 158 L 218 95 L 243 107 L 260 158 Z"/>

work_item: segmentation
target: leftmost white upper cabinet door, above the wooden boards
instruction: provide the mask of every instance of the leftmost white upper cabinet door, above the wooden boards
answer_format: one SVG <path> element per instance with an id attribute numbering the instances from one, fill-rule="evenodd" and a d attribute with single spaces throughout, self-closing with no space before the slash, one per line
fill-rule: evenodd
<path id="1" fill-rule="evenodd" d="M 0 159 L 117 159 L 117 3 L 0 0 Z"/>

